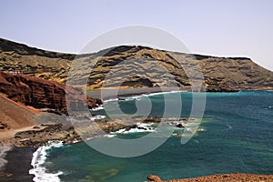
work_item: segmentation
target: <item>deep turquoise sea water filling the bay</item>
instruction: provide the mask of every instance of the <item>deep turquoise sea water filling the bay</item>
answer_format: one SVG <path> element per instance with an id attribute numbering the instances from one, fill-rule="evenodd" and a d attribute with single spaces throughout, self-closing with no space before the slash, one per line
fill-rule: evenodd
<path id="1" fill-rule="evenodd" d="M 177 94 L 183 100 L 181 116 L 188 116 L 191 94 Z M 149 97 L 153 102 L 150 115 L 162 116 L 164 95 Z M 128 114 L 136 112 L 134 99 L 119 101 L 119 106 Z M 185 145 L 180 137 L 172 136 L 141 157 L 108 157 L 85 143 L 53 147 L 47 151 L 43 167 L 46 173 L 62 171 L 61 181 L 141 182 L 149 174 L 162 179 L 235 172 L 273 174 L 273 92 L 207 93 L 200 128 L 204 131 L 198 131 Z M 123 137 L 134 135 L 142 134 Z"/>

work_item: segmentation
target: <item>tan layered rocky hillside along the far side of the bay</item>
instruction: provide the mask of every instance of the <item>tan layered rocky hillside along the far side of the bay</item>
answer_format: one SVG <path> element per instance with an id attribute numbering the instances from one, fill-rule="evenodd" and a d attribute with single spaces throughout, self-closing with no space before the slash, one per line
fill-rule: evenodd
<path id="1" fill-rule="evenodd" d="M 81 68 L 70 69 L 72 60 Z M 96 63 L 90 62 L 95 60 Z M 198 66 L 201 68 L 198 70 Z M 77 68 L 79 68 L 77 67 Z M 92 67 L 92 68 L 91 68 Z M 74 71 L 76 85 L 88 76 L 91 89 L 111 87 L 191 86 L 205 78 L 207 91 L 273 89 L 273 72 L 245 57 L 215 57 L 174 53 L 144 46 L 121 45 L 96 54 L 75 56 L 48 52 L 0 39 L 0 69 L 66 82 Z M 187 73 L 187 74 L 186 74 Z"/>

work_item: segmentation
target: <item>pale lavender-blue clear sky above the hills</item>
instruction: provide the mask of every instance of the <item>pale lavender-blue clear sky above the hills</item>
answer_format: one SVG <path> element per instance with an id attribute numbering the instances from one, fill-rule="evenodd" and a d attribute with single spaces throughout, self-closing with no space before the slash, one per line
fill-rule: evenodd
<path id="1" fill-rule="evenodd" d="M 2 0 L 0 8 L 2 38 L 46 50 L 79 53 L 109 30 L 146 25 L 191 53 L 247 56 L 273 71 L 271 0 Z"/>

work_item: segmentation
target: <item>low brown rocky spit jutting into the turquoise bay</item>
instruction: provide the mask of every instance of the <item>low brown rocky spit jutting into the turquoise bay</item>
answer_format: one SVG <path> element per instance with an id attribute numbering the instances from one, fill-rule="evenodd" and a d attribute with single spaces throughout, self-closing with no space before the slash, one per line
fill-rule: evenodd
<path id="1" fill-rule="evenodd" d="M 67 116 L 60 117 L 62 119 L 68 118 Z M 174 122 L 177 120 L 177 122 Z M 153 116 L 136 116 L 131 119 L 100 119 L 96 121 L 90 121 L 85 117 L 78 119 L 81 125 L 66 123 L 60 121 L 55 124 L 40 124 L 35 125 L 31 129 L 20 131 L 15 133 L 14 137 L 0 140 L 0 146 L 2 147 L 42 147 L 47 144 L 48 141 L 63 141 L 65 145 L 73 144 L 82 141 L 81 136 L 92 134 L 93 137 L 107 135 L 111 132 L 116 132 L 121 129 L 126 131 L 137 128 L 146 128 L 137 126 L 136 123 L 145 124 L 158 124 L 165 122 L 170 126 L 176 126 L 177 128 L 183 128 L 184 123 L 195 122 L 195 119 L 191 118 L 158 118 Z M 92 127 L 96 125 L 98 127 Z M 89 127 L 86 127 L 89 126 Z M 76 128 L 75 128 L 76 127 Z M 102 133 L 103 131 L 103 133 Z"/>

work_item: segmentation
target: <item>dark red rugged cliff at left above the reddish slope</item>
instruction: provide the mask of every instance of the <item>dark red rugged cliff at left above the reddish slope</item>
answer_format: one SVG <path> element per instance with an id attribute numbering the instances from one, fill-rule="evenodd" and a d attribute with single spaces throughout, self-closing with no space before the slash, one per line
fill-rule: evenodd
<path id="1" fill-rule="evenodd" d="M 21 74 L 0 72 L 0 92 L 7 98 L 56 114 L 67 114 L 66 86 L 55 81 L 43 80 Z M 79 90 L 70 87 L 68 92 L 72 96 L 81 96 Z M 73 98 L 76 106 L 84 105 L 83 98 Z M 101 104 L 99 99 L 87 98 L 89 107 Z"/>

